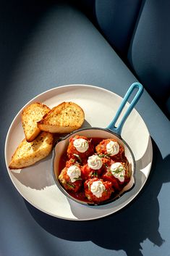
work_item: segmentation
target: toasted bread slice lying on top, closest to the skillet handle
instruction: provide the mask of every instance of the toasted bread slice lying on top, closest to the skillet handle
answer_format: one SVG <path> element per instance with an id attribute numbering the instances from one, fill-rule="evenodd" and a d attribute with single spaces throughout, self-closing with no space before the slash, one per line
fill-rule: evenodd
<path id="1" fill-rule="evenodd" d="M 82 108 L 73 102 L 63 102 L 38 122 L 38 128 L 50 133 L 70 133 L 79 129 L 85 120 Z"/>

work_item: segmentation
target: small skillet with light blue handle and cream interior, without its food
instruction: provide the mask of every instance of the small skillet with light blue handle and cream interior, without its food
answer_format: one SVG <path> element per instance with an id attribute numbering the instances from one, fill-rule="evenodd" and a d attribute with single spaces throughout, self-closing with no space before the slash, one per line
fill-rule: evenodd
<path id="1" fill-rule="evenodd" d="M 129 104 L 127 111 L 124 113 L 122 119 L 119 121 L 119 125 L 116 126 L 116 122 L 119 118 L 119 116 L 122 113 L 122 110 L 124 109 L 125 104 L 127 103 L 129 96 L 132 95 L 132 92 L 137 88 L 137 92 L 135 96 L 132 99 L 132 102 Z M 140 99 L 140 96 L 143 94 L 143 86 L 140 83 L 132 83 L 132 85 L 129 87 L 127 93 L 124 96 L 124 99 L 122 100 L 122 103 L 119 106 L 119 109 L 116 112 L 116 115 L 114 119 L 111 121 L 111 123 L 106 128 L 81 128 L 77 131 L 74 131 L 72 133 L 69 133 L 69 135 L 65 136 L 64 138 L 57 141 L 56 146 L 54 147 L 53 157 L 52 157 L 52 171 L 54 180 L 56 182 L 56 185 L 59 187 L 62 193 L 66 195 L 69 199 L 72 199 L 73 201 L 80 203 L 82 205 L 106 205 L 111 202 L 114 202 L 114 200 L 119 199 L 125 192 L 127 193 L 129 190 L 131 190 L 135 186 L 135 157 L 132 153 L 132 150 L 128 146 L 127 142 L 124 141 L 121 137 L 122 127 L 124 125 L 124 122 L 127 120 L 127 117 L 132 112 L 133 108 L 135 107 L 135 104 L 137 104 L 138 100 Z M 80 199 L 76 199 L 75 197 L 72 197 L 67 191 L 61 186 L 59 183 L 59 161 L 61 159 L 62 154 L 66 152 L 67 146 L 69 144 L 69 139 L 73 136 L 86 136 L 89 138 L 102 138 L 102 139 L 116 139 L 119 144 L 122 144 L 124 146 L 125 156 L 127 157 L 127 160 L 129 162 L 129 168 L 131 168 L 132 176 L 130 178 L 129 183 L 127 183 L 126 186 L 124 186 L 124 189 L 119 193 L 114 195 L 114 197 L 111 197 L 109 200 L 106 200 L 104 202 L 101 202 L 100 204 L 95 204 L 93 202 L 84 202 Z"/>

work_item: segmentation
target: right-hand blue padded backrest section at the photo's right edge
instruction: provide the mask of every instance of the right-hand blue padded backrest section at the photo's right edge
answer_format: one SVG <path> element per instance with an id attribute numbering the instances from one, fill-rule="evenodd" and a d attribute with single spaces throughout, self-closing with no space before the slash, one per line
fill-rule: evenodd
<path id="1" fill-rule="evenodd" d="M 129 62 L 160 106 L 170 96 L 170 1 L 144 1 L 131 46 Z"/>

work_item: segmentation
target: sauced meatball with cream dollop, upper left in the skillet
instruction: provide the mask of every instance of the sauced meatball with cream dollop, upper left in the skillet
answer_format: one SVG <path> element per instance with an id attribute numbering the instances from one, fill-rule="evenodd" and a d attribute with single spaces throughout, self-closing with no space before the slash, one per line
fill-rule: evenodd
<path id="1" fill-rule="evenodd" d="M 87 162 L 87 158 L 94 153 L 94 146 L 91 139 L 85 136 L 75 136 L 69 139 L 69 146 L 67 149 L 68 158 L 76 159 L 80 163 Z"/>

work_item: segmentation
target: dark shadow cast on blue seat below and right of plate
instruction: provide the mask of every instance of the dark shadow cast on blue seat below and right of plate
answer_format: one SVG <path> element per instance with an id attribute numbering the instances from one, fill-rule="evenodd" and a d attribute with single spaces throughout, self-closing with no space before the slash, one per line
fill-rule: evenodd
<path id="1" fill-rule="evenodd" d="M 91 240 L 103 248 L 122 249 L 127 256 L 141 256 L 143 253 L 140 244 L 145 239 L 149 239 L 158 247 L 161 247 L 164 241 L 159 233 L 157 197 L 162 184 L 170 181 L 170 156 L 162 159 L 154 141 L 153 155 L 153 166 L 143 190 L 127 207 L 106 218 L 90 221 L 62 220 L 46 215 L 25 201 L 27 209 L 42 228 L 56 237 L 69 241 Z M 158 170 L 163 170 L 161 176 Z M 49 250 L 50 248 L 51 245 Z M 49 251 L 49 256 L 52 253 L 53 249 Z"/>

